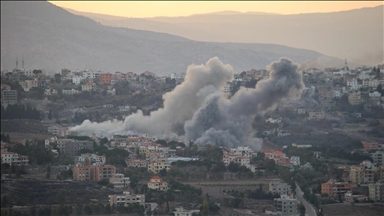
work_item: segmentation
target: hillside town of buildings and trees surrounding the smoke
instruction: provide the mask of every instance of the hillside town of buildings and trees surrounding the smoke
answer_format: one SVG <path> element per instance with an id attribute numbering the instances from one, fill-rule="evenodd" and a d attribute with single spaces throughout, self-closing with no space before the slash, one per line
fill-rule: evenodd
<path id="1" fill-rule="evenodd" d="M 367 206 L 367 214 L 380 215 L 384 65 L 350 69 L 345 61 L 302 73 L 299 100 L 255 116 L 263 145 L 252 149 L 71 133 L 86 119 L 161 108 L 162 95 L 185 74 L 50 75 L 16 62 L 1 73 L 1 215 L 353 215 L 340 209 Z M 265 78 L 266 70 L 243 71 L 223 94 Z"/>

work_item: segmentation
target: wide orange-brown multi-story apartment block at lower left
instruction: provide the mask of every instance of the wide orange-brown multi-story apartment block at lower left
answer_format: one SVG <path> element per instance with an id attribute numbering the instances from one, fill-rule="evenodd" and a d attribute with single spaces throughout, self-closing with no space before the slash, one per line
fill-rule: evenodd
<path id="1" fill-rule="evenodd" d="M 109 180 L 116 173 L 113 165 L 75 165 L 73 167 L 73 179 L 76 181 L 101 181 Z"/>

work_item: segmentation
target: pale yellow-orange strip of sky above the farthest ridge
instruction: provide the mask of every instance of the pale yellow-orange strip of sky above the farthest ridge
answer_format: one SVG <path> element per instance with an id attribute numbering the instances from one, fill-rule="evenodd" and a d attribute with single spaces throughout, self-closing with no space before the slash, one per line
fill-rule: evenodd
<path id="1" fill-rule="evenodd" d="M 50 1 L 83 12 L 124 17 L 188 16 L 218 11 L 299 14 L 383 5 L 383 1 Z"/>

